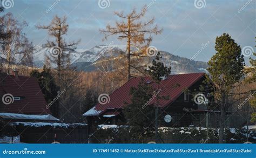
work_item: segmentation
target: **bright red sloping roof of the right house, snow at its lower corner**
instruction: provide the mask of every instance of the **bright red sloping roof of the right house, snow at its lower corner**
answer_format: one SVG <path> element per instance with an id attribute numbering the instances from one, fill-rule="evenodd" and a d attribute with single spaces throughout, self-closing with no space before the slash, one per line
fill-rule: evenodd
<path id="1" fill-rule="evenodd" d="M 170 105 L 174 100 L 176 100 L 179 95 L 183 93 L 183 91 L 191 87 L 194 83 L 196 83 L 199 79 L 204 77 L 205 73 L 188 73 L 188 74 L 174 74 L 169 75 L 167 79 L 162 80 L 160 85 L 161 89 L 160 94 L 162 96 L 169 96 L 169 100 L 161 99 L 159 101 L 160 107 L 165 107 Z M 97 104 L 95 107 L 87 111 L 84 115 L 100 115 L 103 114 L 106 109 L 120 109 L 124 107 L 124 102 L 127 104 L 131 103 L 131 95 L 130 88 L 137 87 L 139 81 L 142 78 L 132 78 L 123 86 L 118 88 L 112 94 L 110 94 L 109 103 L 105 105 Z M 150 83 L 152 79 L 150 77 L 144 77 L 144 81 L 146 83 Z M 157 88 L 156 84 L 152 84 L 154 88 Z M 153 104 L 156 102 L 156 98 L 154 98 L 150 103 Z"/>

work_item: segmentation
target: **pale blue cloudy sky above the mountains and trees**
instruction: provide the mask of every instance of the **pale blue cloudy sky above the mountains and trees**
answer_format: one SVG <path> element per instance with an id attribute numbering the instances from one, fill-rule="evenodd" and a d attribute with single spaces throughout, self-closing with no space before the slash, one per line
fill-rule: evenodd
<path id="1" fill-rule="evenodd" d="M 153 36 L 152 46 L 180 57 L 208 61 L 215 53 L 215 38 L 224 32 L 231 35 L 245 53 L 246 64 L 251 56 L 256 36 L 256 0 L 3 0 L 9 5 L 2 13 L 11 12 L 19 20 L 25 20 L 24 29 L 34 45 L 42 45 L 51 39 L 45 30 L 35 25 L 50 24 L 55 15 L 66 16 L 69 24 L 67 40 L 78 40 L 78 49 L 90 49 L 102 44 L 125 44 L 111 37 L 102 40 L 99 29 L 119 20 L 114 11 L 129 13 L 147 5 L 144 20 L 155 18 L 154 24 L 163 28 L 161 35 Z M 103 2 L 102 2 L 103 1 Z M 104 5 L 106 4 L 106 5 Z M 6 3 L 7 5 L 7 3 Z M 251 50 L 250 50 L 251 49 Z"/>

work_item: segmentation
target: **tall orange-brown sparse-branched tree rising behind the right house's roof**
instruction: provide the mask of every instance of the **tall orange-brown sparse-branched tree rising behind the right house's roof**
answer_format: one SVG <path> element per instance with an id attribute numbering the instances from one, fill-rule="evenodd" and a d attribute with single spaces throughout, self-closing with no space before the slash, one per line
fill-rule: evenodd
<path id="1" fill-rule="evenodd" d="M 136 68 L 131 63 L 131 56 L 144 57 L 146 48 L 149 47 L 152 34 L 158 35 L 161 33 L 161 29 L 158 29 L 157 25 L 153 25 L 154 18 L 151 18 L 147 22 L 143 22 L 143 18 L 146 13 L 146 6 L 142 11 L 138 12 L 133 9 L 129 14 L 124 15 L 123 12 L 114 12 L 121 22 L 116 22 L 116 26 L 106 26 L 106 30 L 100 30 L 104 33 L 105 38 L 109 36 L 118 35 L 119 40 L 125 40 L 126 45 L 126 58 L 127 58 L 127 80 L 131 78 L 131 67 Z M 139 49 L 139 51 L 132 51 L 132 47 Z"/>

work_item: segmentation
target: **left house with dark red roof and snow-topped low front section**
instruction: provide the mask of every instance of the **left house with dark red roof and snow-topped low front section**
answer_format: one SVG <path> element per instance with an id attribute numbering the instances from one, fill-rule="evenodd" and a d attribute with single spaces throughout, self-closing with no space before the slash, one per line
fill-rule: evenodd
<path id="1" fill-rule="evenodd" d="M 52 116 L 36 78 L 1 71 L 0 97 L 0 142 L 86 142 L 87 125 Z"/>

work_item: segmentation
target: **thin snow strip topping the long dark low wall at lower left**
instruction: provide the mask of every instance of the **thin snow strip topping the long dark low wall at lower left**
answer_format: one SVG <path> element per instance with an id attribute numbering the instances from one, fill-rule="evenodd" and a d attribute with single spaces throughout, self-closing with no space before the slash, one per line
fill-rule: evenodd
<path id="1" fill-rule="evenodd" d="M 12 122 L 11 126 L 29 126 L 29 127 L 43 127 L 43 126 L 52 126 L 53 128 L 69 128 L 77 126 L 87 126 L 86 123 L 52 123 L 52 122 Z"/>

